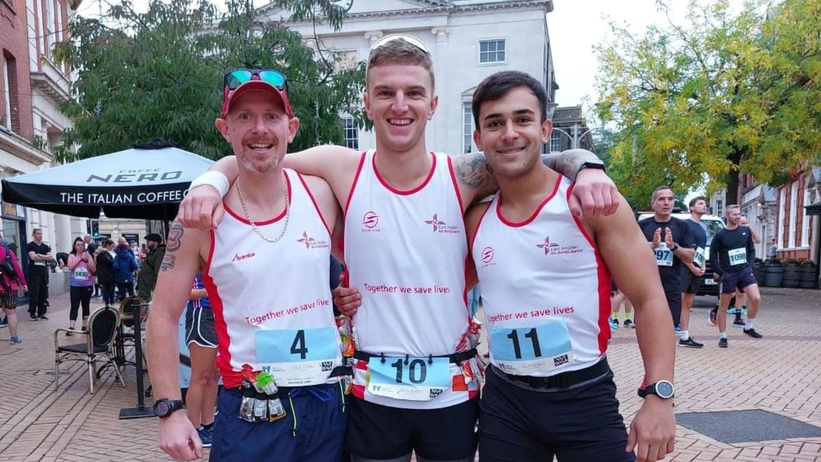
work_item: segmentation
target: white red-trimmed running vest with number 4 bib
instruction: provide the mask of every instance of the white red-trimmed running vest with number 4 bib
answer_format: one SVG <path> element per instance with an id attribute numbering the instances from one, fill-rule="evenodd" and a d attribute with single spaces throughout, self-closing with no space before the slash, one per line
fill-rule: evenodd
<path id="1" fill-rule="evenodd" d="M 309 386 L 342 364 L 328 284 L 331 235 L 299 174 L 285 170 L 291 216 L 277 243 L 260 238 L 241 211 L 211 232 L 203 272 L 217 330 L 217 365 L 227 388 L 241 385 L 245 363 L 273 374 L 277 386 Z M 285 212 L 257 222 L 269 238 L 282 232 Z"/>

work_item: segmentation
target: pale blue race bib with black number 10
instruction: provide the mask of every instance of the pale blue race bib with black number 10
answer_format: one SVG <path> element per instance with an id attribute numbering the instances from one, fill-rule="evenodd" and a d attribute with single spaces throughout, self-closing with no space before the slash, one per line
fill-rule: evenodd
<path id="1" fill-rule="evenodd" d="M 429 401 L 451 386 L 448 358 L 371 358 L 365 381 L 372 395 Z"/>

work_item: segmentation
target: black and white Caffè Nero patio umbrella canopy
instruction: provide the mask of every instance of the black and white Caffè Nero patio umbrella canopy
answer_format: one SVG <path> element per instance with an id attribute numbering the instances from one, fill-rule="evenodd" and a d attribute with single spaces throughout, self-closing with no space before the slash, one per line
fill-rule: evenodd
<path id="1" fill-rule="evenodd" d="M 2 200 L 87 218 L 103 210 L 111 218 L 174 219 L 190 182 L 213 160 L 167 142 L 141 146 L 4 179 Z"/>

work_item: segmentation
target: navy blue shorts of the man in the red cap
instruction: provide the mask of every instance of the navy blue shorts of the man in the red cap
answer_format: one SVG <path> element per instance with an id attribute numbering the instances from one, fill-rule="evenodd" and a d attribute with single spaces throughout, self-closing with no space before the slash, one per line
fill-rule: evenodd
<path id="1" fill-rule="evenodd" d="M 320 400 L 308 388 L 330 396 L 330 400 Z M 347 406 L 343 406 L 346 399 L 339 385 L 303 387 L 298 395 L 282 399 L 286 417 L 251 423 L 237 417 L 240 391 L 222 390 L 209 461 L 341 462 L 348 418 Z"/>

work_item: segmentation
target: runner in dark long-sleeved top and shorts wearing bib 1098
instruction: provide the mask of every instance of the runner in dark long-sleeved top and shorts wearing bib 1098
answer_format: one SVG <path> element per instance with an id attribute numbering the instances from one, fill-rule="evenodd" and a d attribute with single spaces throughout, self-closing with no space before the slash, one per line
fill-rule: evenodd
<path id="1" fill-rule="evenodd" d="M 718 346 L 721 348 L 727 348 L 727 307 L 730 306 L 730 298 L 736 289 L 744 292 L 750 303 L 744 333 L 754 339 L 762 337 L 753 328 L 761 303 L 759 284 L 756 284 L 753 275 L 753 235 L 749 228 L 738 225 L 741 221 L 739 206 L 728 206 L 725 213 L 727 228 L 718 231 L 710 245 L 710 261 L 713 262 L 717 278 L 721 280 L 721 296 L 718 299 Z"/>

